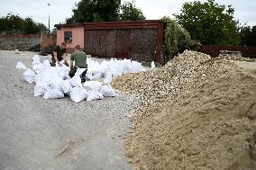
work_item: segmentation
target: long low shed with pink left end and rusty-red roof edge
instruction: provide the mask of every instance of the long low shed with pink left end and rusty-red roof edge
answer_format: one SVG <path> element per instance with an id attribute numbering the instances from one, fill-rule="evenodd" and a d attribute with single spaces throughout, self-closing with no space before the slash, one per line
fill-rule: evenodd
<path id="1" fill-rule="evenodd" d="M 57 44 L 67 43 L 70 53 L 76 45 L 98 58 L 131 58 L 163 63 L 163 22 L 85 22 L 56 24 Z"/>

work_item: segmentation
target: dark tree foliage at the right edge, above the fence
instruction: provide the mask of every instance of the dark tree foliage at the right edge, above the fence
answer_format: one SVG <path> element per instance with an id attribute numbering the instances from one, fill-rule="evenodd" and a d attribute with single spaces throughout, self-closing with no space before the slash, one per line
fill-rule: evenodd
<path id="1" fill-rule="evenodd" d="M 241 45 L 246 47 L 256 47 L 256 25 L 241 27 L 240 31 Z"/>

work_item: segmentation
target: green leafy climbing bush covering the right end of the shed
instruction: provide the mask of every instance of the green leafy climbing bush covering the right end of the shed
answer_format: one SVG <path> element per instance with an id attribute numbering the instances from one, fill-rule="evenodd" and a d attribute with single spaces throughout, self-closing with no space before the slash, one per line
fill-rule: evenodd
<path id="1" fill-rule="evenodd" d="M 164 22 L 165 28 L 163 49 L 167 56 L 166 61 L 196 44 L 191 40 L 189 33 L 178 22 L 170 19 L 168 16 L 163 17 L 161 21 Z"/>

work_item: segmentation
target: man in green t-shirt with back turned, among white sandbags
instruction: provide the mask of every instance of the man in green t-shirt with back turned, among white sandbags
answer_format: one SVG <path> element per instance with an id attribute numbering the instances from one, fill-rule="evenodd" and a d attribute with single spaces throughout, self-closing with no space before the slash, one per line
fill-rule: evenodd
<path id="1" fill-rule="evenodd" d="M 74 62 L 75 61 L 75 66 Z M 82 82 L 85 82 L 87 79 L 87 54 L 83 51 L 80 51 L 80 46 L 77 45 L 75 47 L 75 52 L 71 54 L 70 57 L 70 71 L 69 76 L 73 77 L 75 76 L 75 73 L 77 72 L 77 69 L 79 68 L 86 68 L 86 71 L 84 71 L 81 75 Z"/>

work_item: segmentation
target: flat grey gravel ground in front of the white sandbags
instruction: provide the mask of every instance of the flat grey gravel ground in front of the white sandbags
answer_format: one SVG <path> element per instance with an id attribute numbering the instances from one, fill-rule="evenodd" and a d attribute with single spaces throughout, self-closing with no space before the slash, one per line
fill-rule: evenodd
<path id="1" fill-rule="evenodd" d="M 33 85 L 15 68 L 19 60 L 31 67 L 34 54 L 0 50 L 0 169 L 131 169 L 123 134 L 138 99 L 120 93 L 81 103 L 34 97 Z"/>

